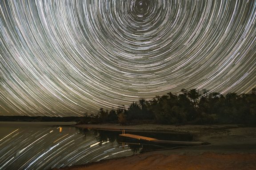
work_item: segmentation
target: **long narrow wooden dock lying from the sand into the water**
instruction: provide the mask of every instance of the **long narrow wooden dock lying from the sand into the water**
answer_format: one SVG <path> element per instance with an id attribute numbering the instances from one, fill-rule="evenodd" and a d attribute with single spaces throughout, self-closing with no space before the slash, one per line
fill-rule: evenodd
<path id="1" fill-rule="evenodd" d="M 127 138 L 132 138 L 132 139 L 137 139 L 137 140 L 144 140 L 152 143 L 163 143 L 163 144 L 177 144 L 177 145 L 206 145 L 210 143 L 205 143 L 205 142 L 190 142 L 190 141 L 175 141 L 175 140 L 159 140 L 155 138 L 149 138 L 145 136 L 140 136 L 140 135 L 132 135 L 132 134 L 120 134 L 122 137 L 127 137 Z"/>

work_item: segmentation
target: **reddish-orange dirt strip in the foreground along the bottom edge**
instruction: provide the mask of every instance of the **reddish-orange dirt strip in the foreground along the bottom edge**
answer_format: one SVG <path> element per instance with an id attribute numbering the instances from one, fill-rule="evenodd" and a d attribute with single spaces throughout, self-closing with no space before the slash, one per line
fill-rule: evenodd
<path id="1" fill-rule="evenodd" d="M 64 170 L 255 170 L 256 154 L 163 155 L 145 153 Z"/>

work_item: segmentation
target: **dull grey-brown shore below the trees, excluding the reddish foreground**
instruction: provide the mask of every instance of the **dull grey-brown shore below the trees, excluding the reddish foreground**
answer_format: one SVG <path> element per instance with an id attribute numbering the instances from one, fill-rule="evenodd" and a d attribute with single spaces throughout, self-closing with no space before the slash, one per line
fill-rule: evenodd
<path id="1" fill-rule="evenodd" d="M 170 152 L 218 152 L 218 153 L 256 153 L 256 127 L 244 125 L 158 125 L 142 124 L 121 126 L 117 124 L 83 124 L 75 125 L 77 128 L 89 128 L 107 131 L 121 131 L 132 133 L 134 131 L 190 134 L 193 141 L 207 142 L 210 145 L 199 145 L 171 150 Z M 147 136 L 150 137 L 150 136 Z"/>

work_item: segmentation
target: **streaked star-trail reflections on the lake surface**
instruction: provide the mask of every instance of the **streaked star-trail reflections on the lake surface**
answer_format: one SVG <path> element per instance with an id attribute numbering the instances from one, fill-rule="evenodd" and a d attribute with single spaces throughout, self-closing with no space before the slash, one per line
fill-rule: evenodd
<path id="1" fill-rule="evenodd" d="M 133 155 L 128 146 L 106 139 L 96 131 L 73 127 L 29 124 L 8 129 L 0 139 L 0 170 L 52 169 Z"/>

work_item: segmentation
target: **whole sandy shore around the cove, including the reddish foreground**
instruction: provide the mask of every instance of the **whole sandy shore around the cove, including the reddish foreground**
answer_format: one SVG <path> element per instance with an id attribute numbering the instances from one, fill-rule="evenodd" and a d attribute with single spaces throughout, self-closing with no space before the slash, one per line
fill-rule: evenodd
<path id="1" fill-rule="evenodd" d="M 64 170 L 253 170 L 256 169 L 256 127 L 241 125 L 76 125 L 114 131 L 189 133 L 210 145 L 154 151 L 126 158 L 103 160 Z"/>

